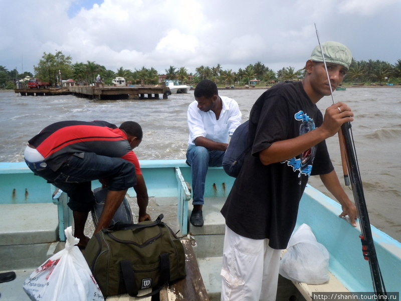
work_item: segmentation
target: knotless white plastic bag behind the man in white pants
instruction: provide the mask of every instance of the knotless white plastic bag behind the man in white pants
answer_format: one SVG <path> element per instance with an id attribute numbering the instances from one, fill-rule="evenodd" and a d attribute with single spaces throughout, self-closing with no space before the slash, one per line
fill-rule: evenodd
<path id="1" fill-rule="evenodd" d="M 280 274 L 290 280 L 321 284 L 329 280 L 329 252 L 316 241 L 311 228 L 302 224 L 288 242 L 280 261 Z"/>

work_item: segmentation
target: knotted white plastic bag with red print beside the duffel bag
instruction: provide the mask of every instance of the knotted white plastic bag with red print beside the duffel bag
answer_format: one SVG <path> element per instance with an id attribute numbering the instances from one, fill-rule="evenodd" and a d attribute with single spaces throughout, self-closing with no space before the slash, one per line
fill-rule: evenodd
<path id="1" fill-rule="evenodd" d="M 102 301 L 103 294 L 86 262 L 75 246 L 79 239 L 72 227 L 64 233 L 64 250 L 54 254 L 24 282 L 24 290 L 33 301 Z"/>

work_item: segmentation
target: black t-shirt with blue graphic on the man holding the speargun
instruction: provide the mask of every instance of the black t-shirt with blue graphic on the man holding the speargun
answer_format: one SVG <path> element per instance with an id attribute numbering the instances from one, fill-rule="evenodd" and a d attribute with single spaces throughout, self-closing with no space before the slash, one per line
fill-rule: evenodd
<path id="1" fill-rule="evenodd" d="M 322 113 L 301 82 L 277 84 L 258 98 L 250 114 L 252 149 L 221 211 L 231 230 L 252 239 L 268 238 L 274 249 L 287 247 L 309 176 L 327 174 L 333 166 L 325 141 L 291 160 L 268 166 L 260 162 L 259 152 L 322 122 Z"/>

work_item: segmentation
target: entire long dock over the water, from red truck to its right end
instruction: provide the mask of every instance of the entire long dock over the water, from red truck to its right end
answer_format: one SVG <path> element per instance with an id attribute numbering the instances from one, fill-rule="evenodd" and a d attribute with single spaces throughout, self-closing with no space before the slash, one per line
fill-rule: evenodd
<path id="1" fill-rule="evenodd" d="M 128 86 L 128 87 L 96 87 L 96 86 L 71 86 L 66 88 L 47 89 L 15 89 L 15 93 L 21 96 L 50 96 L 69 95 L 86 97 L 96 100 L 119 100 L 119 99 L 167 99 L 171 94 L 166 86 Z M 160 94 L 162 96 L 160 96 Z"/>

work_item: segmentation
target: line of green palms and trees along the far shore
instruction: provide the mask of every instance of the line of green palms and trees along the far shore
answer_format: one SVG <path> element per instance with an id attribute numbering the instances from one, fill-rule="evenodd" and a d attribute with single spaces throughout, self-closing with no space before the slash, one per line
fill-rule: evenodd
<path id="1" fill-rule="evenodd" d="M 26 76 L 36 77 L 42 81 L 50 82 L 52 86 L 60 83 L 60 80 L 73 79 L 81 85 L 93 84 L 99 74 L 106 85 L 112 85 L 115 77 L 124 77 L 126 82 L 132 85 L 156 85 L 159 84 L 161 74 L 153 67 L 148 69 L 124 69 L 120 67 L 116 71 L 108 70 L 103 65 L 94 61 L 86 63 L 72 63 L 71 56 L 65 56 L 62 51 L 55 54 L 44 53 L 42 59 L 34 66 L 35 76 L 30 72 L 19 74 L 16 69 L 8 71 L 0 66 L 0 88 L 14 89 L 16 79 L 24 79 Z M 274 72 L 265 64 L 258 61 L 238 71 L 224 70 L 220 64 L 217 66 L 199 66 L 195 73 L 188 73 L 185 67 L 176 68 L 169 66 L 165 69 L 163 79 L 177 80 L 182 84 L 196 84 L 203 79 L 211 79 L 218 85 L 246 85 L 255 83 L 270 85 L 285 80 L 300 80 L 305 76 L 305 70 L 295 70 L 294 67 L 283 67 Z M 394 65 L 380 60 L 356 61 L 352 63 L 344 78 L 344 83 L 392 83 L 401 84 L 401 59 Z"/>

